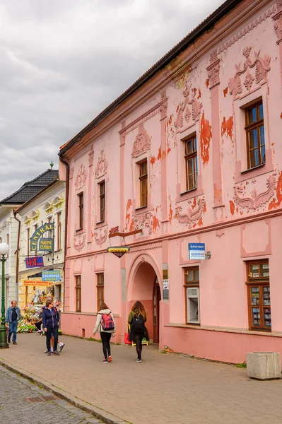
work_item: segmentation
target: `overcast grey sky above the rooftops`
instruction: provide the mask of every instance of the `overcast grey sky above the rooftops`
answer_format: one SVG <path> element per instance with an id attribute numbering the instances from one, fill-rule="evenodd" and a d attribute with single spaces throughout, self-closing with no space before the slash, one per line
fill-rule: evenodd
<path id="1" fill-rule="evenodd" d="M 223 0 L 0 0 L 0 200 Z"/>

